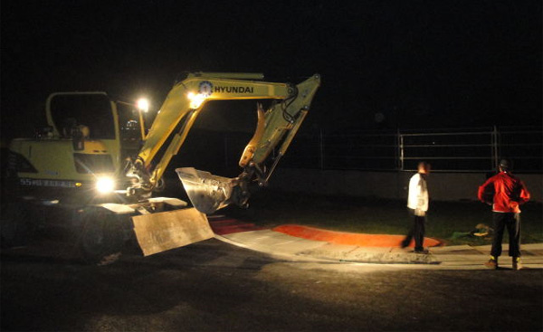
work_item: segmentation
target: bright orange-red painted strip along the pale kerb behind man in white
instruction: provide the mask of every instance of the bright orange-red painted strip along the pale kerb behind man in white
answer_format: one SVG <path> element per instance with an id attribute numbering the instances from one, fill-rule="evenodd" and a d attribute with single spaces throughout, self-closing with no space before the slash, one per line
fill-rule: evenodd
<path id="1" fill-rule="evenodd" d="M 272 230 L 308 240 L 324 241 L 334 244 L 357 245 L 360 247 L 399 247 L 400 242 L 405 238 L 405 235 L 334 232 L 296 224 L 285 224 L 277 226 Z M 432 238 L 424 238 L 423 245 L 424 247 L 435 247 L 442 245 L 442 242 Z M 414 247 L 414 241 L 412 241 L 409 246 Z"/>

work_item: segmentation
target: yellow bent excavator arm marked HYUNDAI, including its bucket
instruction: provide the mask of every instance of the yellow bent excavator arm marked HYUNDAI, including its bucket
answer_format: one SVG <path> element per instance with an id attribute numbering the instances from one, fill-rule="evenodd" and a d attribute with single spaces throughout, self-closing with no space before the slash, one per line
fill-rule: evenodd
<path id="1" fill-rule="evenodd" d="M 243 151 L 239 162 L 243 172 L 238 177 L 225 178 L 194 168 L 176 169 L 191 202 L 201 212 L 213 213 L 231 203 L 246 205 L 248 184 L 255 180 L 259 185 L 267 184 L 305 119 L 320 84 L 317 74 L 298 85 L 256 81 L 262 78 L 263 75 L 257 73 L 196 72 L 176 83 L 149 129 L 138 157 L 129 167 L 127 176 L 132 183 L 128 193 L 145 195 L 159 185 L 171 158 L 182 147 L 206 101 L 274 100 L 270 109 L 264 111 L 260 105 L 257 109 L 257 127 Z M 158 151 L 176 128 L 179 129 L 173 134 L 164 154 L 152 167 Z M 266 167 L 271 151 L 278 146 L 279 151 L 272 165 Z"/>

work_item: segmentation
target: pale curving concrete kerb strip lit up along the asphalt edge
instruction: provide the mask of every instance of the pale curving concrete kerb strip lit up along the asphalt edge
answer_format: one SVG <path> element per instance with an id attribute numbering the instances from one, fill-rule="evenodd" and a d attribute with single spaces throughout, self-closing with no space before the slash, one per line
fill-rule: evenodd
<path id="1" fill-rule="evenodd" d="M 301 239 L 271 230 L 235 232 L 214 236 L 252 251 L 260 251 L 274 258 L 288 261 L 327 262 L 389 266 L 403 269 L 436 270 L 484 270 L 490 246 L 468 245 L 430 248 L 429 254 L 415 254 L 400 248 L 358 247 L 353 245 L 330 244 Z M 503 252 L 507 254 L 504 244 Z M 543 243 L 526 244 L 522 247 L 523 265 L 530 269 L 543 269 Z M 510 269 L 509 257 L 502 256 L 500 266 Z"/>

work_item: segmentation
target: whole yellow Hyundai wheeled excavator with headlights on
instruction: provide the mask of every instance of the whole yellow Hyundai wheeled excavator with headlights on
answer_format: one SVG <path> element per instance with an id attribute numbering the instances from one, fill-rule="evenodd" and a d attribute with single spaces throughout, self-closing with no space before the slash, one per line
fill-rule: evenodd
<path id="1" fill-rule="evenodd" d="M 144 256 L 214 236 L 206 214 L 248 206 L 249 187 L 265 186 L 291 145 L 320 85 L 263 81 L 262 73 L 191 72 L 176 82 L 146 129 L 146 106 L 105 92 L 56 92 L 45 103 L 47 127 L 9 146 L 7 222 L 3 242 L 42 224 L 69 226 L 88 261 L 137 244 Z M 257 125 L 234 178 L 176 168 L 192 207 L 163 197 L 164 175 L 210 100 L 257 103 Z M 34 231 L 35 232 L 35 231 Z"/>

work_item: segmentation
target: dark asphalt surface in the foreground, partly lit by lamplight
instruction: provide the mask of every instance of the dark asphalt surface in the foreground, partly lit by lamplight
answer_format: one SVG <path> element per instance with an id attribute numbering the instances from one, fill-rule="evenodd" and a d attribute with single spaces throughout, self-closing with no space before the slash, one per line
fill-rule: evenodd
<path id="1" fill-rule="evenodd" d="M 215 239 L 107 266 L 74 252 L 1 251 L 3 331 L 543 330 L 540 269 L 291 261 Z"/>

